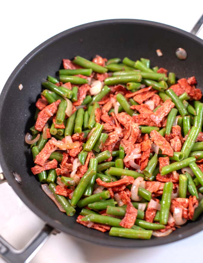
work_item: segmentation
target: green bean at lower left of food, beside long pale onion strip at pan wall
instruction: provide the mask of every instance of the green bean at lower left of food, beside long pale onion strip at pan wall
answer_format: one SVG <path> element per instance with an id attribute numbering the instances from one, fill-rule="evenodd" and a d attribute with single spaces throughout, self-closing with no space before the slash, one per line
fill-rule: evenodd
<path id="1" fill-rule="evenodd" d="M 54 196 L 56 197 L 56 199 L 59 201 L 59 203 L 61 204 L 61 206 L 63 207 L 63 209 L 66 211 L 66 214 L 68 216 L 73 216 L 76 212 L 76 210 L 74 209 L 73 206 L 70 205 L 69 201 L 62 195 L 57 195 L 56 192 L 56 184 L 54 183 L 50 183 L 49 184 L 49 189 L 51 190 L 51 192 L 54 194 Z"/>

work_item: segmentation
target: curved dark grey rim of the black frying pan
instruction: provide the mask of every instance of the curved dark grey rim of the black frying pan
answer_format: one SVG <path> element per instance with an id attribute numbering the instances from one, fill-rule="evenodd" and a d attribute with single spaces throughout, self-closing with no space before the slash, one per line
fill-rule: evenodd
<path id="1" fill-rule="evenodd" d="M 160 29 L 170 30 L 176 33 L 179 33 L 181 35 L 187 36 L 193 41 L 196 41 L 200 43 L 203 46 L 203 40 L 200 39 L 197 36 L 192 35 L 191 33 L 188 33 L 182 29 L 179 29 L 177 27 L 173 27 L 170 25 L 165 25 L 158 22 L 148 21 L 148 20 L 140 20 L 140 19 L 108 19 L 108 20 L 101 20 L 101 21 L 95 21 L 90 22 L 87 24 L 79 25 L 76 27 L 72 27 L 70 29 L 67 29 L 65 31 L 62 31 L 61 33 L 56 34 L 55 36 L 47 39 L 43 43 L 41 43 L 39 46 L 34 48 L 27 56 L 24 57 L 24 59 L 21 60 L 21 62 L 16 66 L 16 68 L 11 73 L 10 77 L 8 78 L 7 82 L 4 85 L 4 88 L 2 89 L 1 95 L 0 95 L 0 114 L 2 113 L 3 109 L 3 102 L 8 94 L 8 90 L 10 86 L 12 85 L 15 77 L 18 75 L 19 71 L 26 65 L 26 63 L 32 59 L 38 52 L 42 51 L 44 48 L 46 48 L 51 43 L 59 40 L 63 36 L 67 34 L 71 34 L 72 32 L 75 32 L 77 30 L 95 27 L 95 26 L 102 26 L 107 24 L 134 24 L 134 25 L 148 25 Z M 0 126 L 1 126 L 1 119 L 0 119 Z M 0 135 L 1 136 L 1 135 Z M 1 137 L 0 137 L 1 142 Z M 16 194 L 21 198 L 21 200 L 24 202 L 24 204 L 27 205 L 27 207 L 30 208 L 36 215 L 38 215 L 42 220 L 45 222 L 48 222 L 48 224 L 56 229 L 59 229 L 65 233 L 68 233 L 72 236 L 75 236 L 76 238 L 89 241 L 94 244 L 98 245 L 108 245 L 111 247 L 120 247 L 120 248 L 135 248 L 135 247 L 151 247 L 156 245 L 162 245 L 162 244 L 168 244 L 174 241 L 181 240 L 183 238 L 189 237 L 193 234 L 198 233 L 199 231 L 203 230 L 203 222 L 200 223 L 197 226 L 191 227 L 190 230 L 184 231 L 181 235 L 175 235 L 175 236 L 168 236 L 167 238 L 153 238 L 150 240 L 125 240 L 122 238 L 112 238 L 112 240 L 105 240 L 101 239 L 99 237 L 92 236 L 91 234 L 87 236 L 87 234 L 80 233 L 79 231 L 72 230 L 71 228 L 67 228 L 64 225 L 62 225 L 60 222 L 55 221 L 50 216 L 46 215 L 44 212 L 39 210 L 39 208 L 34 205 L 24 194 L 22 189 L 19 187 L 17 182 L 15 181 L 11 171 L 8 169 L 7 165 L 5 164 L 5 159 L 3 156 L 3 150 L 0 144 L 0 163 L 2 170 L 4 172 L 4 176 L 9 182 L 10 186 L 13 188 L 13 190 L 16 192 Z M 92 232 L 91 232 L 92 233 Z"/>

